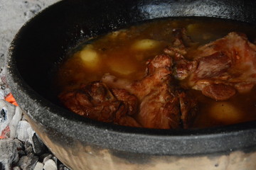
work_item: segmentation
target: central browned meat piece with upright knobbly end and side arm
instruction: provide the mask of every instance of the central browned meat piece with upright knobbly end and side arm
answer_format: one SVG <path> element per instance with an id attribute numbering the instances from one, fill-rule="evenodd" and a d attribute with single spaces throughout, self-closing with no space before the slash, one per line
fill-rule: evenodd
<path id="1" fill-rule="evenodd" d="M 171 66 L 169 55 L 158 55 L 147 62 L 144 79 L 128 82 L 107 74 L 102 81 L 111 88 L 125 89 L 139 98 L 136 118 L 144 128 L 188 128 L 195 117 L 196 101 L 185 91 L 176 90 Z"/>

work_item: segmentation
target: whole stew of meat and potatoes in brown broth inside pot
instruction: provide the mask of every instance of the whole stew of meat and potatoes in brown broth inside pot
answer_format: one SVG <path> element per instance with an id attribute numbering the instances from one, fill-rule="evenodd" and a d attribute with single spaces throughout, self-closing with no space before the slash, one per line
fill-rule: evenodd
<path id="1" fill-rule="evenodd" d="M 206 128 L 256 120 L 255 27 L 172 18 L 79 45 L 55 82 L 63 106 L 107 123 Z"/>

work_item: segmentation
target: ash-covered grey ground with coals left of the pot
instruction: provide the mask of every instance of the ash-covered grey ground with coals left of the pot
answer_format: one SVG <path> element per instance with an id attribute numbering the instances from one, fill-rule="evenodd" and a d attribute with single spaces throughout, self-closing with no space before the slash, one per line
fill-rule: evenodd
<path id="1" fill-rule="evenodd" d="M 60 0 L 0 0 L 0 170 L 68 170 L 48 150 L 23 117 L 21 108 L 5 100 L 4 59 L 18 29 L 47 6 Z"/>

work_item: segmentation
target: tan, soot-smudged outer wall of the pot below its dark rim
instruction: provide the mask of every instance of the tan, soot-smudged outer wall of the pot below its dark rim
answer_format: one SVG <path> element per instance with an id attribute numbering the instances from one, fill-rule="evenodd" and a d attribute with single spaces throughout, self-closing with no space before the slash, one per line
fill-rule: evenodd
<path id="1" fill-rule="evenodd" d="M 119 152 L 85 145 L 79 141 L 73 145 L 56 144 L 28 118 L 32 127 L 48 148 L 63 164 L 75 170 L 255 170 L 255 147 L 246 152 L 237 150 L 216 154 L 197 155 L 149 155 Z M 75 145 L 74 145 L 75 144 Z"/>

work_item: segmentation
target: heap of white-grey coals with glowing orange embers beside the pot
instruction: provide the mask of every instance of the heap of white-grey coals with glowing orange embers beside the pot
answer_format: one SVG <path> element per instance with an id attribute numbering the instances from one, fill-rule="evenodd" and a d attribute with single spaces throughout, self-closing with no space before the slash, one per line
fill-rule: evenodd
<path id="1" fill-rule="evenodd" d="M 48 150 L 9 94 L 0 70 L 0 169 L 68 170 Z"/>

